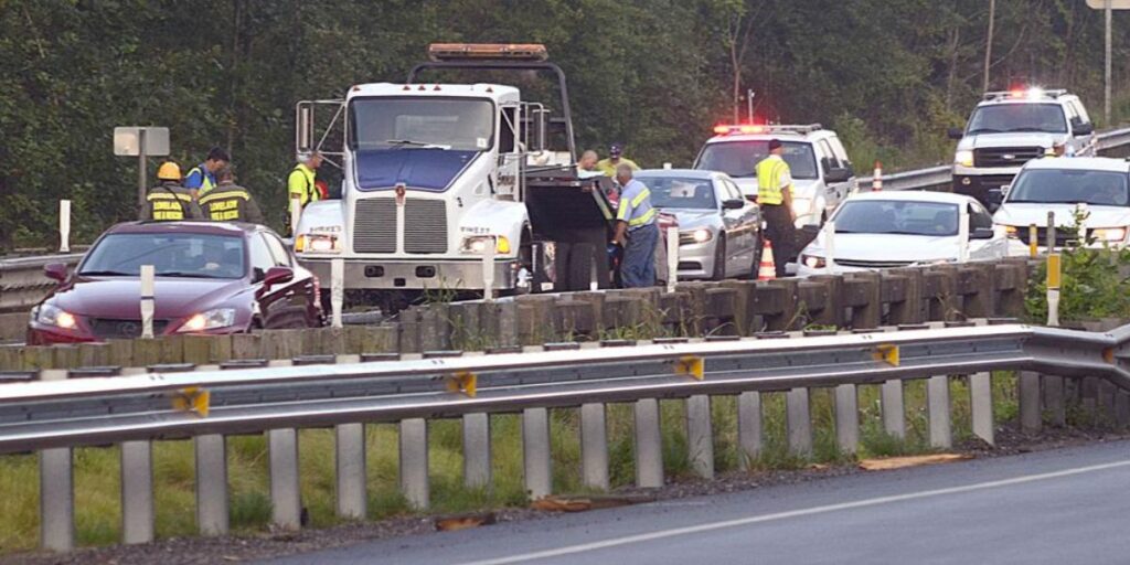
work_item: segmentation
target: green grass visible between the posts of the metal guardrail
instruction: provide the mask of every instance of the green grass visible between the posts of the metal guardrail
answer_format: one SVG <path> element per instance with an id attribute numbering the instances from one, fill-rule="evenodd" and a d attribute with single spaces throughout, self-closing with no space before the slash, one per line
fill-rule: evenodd
<path id="1" fill-rule="evenodd" d="M 857 458 L 928 453 L 925 381 L 905 385 L 906 437 L 883 429 L 879 386 L 859 391 L 860 447 L 842 452 L 835 435 L 835 405 L 831 389 L 814 390 L 810 411 L 814 431 L 811 457 L 790 453 L 785 435 L 784 393 L 762 395 L 763 450 L 749 461 L 754 471 L 799 469 L 812 463 L 850 463 Z M 1016 379 L 998 373 L 993 379 L 994 414 L 999 423 L 1017 416 Z M 950 380 L 954 441 L 971 437 L 967 381 Z M 555 493 L 585 493 L 582 486 L 580 410 L 551 410 L 553 480 Z M 632 405 L 608 406 L 609 476 L 614 488 L 635 481 L 634 419 Z M 680 400 L 662 400 L 663 467 L 668 477 L 693 476 L 687 455 L 686 412 Z M 737 399 L 712 399 L 714 466 L 718 472 L 737 471 L 741 459 L 737 438 Z M 518 415 L 493 416 L 494 480 L 488 488 L 469 489 L 462 483 L 462 428 L 459 420 L 429 423 L 431 513 L 458 513 L 487 507 L 525 504 L 522 481 L 521 420 Z M 380 520 L 415 513 L 398 492 L 398 427 L 366 426 L 368 462 L 368 518 Z M 121 538 L 120 469 L 118 447 L 75 450 L 76 528 L 80 545 L 108 545 Z M 299 433 L 302 498 L 311 525 L 341 523 L 334 514 L 333 432 Z M 154 443 L 157 536 L 195 533 L 195 479 L 192 443 Z M 262 436 L 228 438 L 231 522 L 236 533 L 262 531 L 270 522 L 267 444 Z M 35 455 L 0 458 L 0 551 L 34 548 L 38 536 L 38 470 Z"/>

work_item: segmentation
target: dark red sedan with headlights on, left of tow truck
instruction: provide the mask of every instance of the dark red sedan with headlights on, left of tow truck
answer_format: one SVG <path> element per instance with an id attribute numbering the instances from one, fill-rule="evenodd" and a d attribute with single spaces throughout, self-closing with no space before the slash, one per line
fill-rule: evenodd
<path id="1" fill-rule="evenodd" d="M 324 323 L 318 279 L 275 232 L 251 224 L 128 223 L 95 242 L 33 311 L 28 345 L 141 334 L 140 270 L 154 266 L 154 334 L 237 333 Z"/>

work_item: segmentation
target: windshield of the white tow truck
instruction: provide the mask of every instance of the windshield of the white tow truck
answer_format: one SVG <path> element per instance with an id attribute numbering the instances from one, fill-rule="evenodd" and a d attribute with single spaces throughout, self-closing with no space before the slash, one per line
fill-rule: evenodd
<path id="1" fill-rule="evenodd" d="M 355 98 L 349 103 L 349 146 L 356 150 L 485 151 L 494 145 L 494 105 L 471 98 Z"/>

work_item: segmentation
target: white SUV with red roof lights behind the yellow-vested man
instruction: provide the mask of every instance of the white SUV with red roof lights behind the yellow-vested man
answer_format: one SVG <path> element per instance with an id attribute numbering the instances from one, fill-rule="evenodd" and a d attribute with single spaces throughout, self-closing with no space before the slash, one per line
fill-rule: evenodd
<path id="1" fill-rule="evenodd" d="M 719 125 L 706 140 L 694 168 L 733 177 L 749 200 L 757 198 L 757 164 L 768 155 L 768 142 L 784 146 L 782 156 L 792 172 L 792 209 L 797 227 L 824 224 L 855 185 L 847 151 L 840 138 L 820 124 Z"/>

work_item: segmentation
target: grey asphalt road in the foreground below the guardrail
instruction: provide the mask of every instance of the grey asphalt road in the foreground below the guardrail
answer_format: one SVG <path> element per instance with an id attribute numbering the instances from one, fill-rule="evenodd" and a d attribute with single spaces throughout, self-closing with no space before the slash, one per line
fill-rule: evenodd
<path id="1" fill-rule="evenodd" d="M 388 539 L 277 564 L 1130 563 L 1130 442 Z"/>

